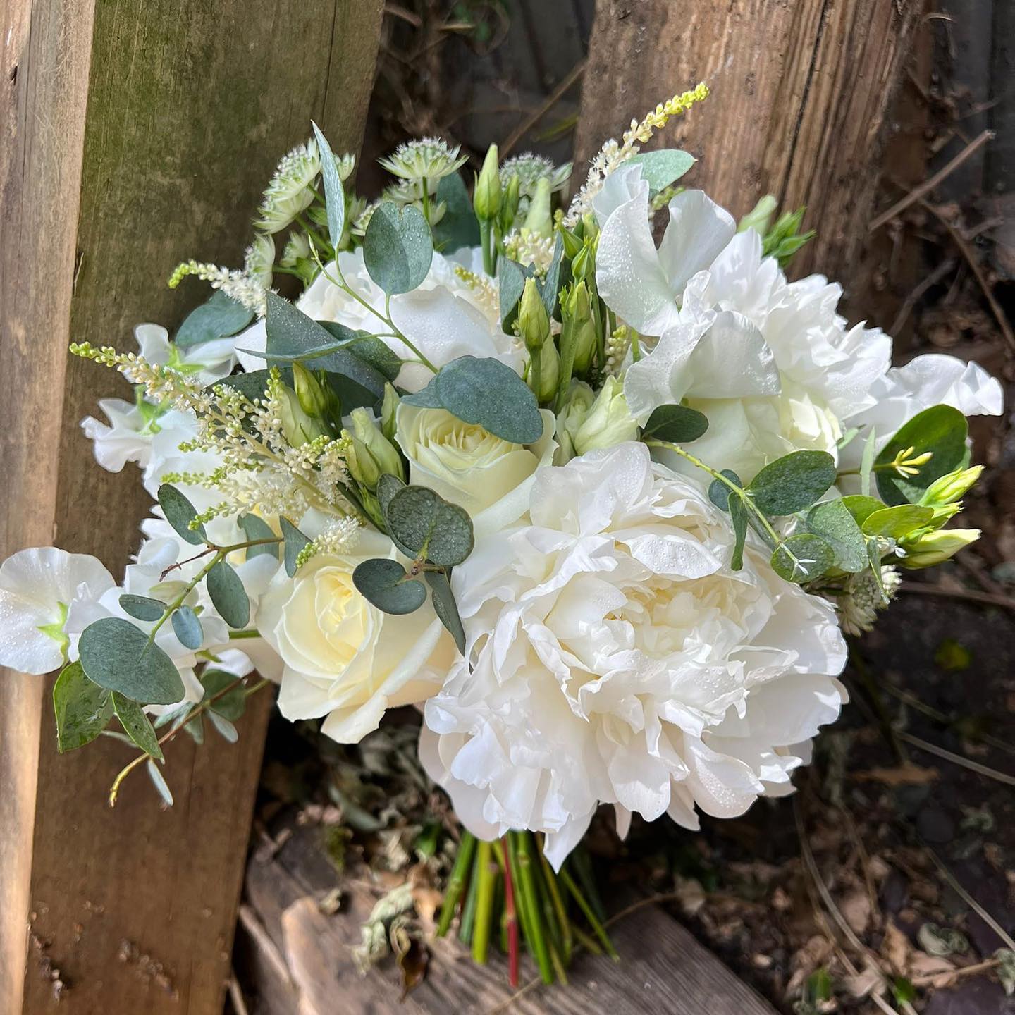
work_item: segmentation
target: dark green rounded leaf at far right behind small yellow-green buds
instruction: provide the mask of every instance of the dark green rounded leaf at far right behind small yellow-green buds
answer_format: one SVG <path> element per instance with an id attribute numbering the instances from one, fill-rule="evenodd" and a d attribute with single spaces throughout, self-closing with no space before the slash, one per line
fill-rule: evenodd
<path id="1" fill-rule="evenodd" d="M 969 458 L 965 416 L 950 405 L 935 405 L 917 413 L 882 448 L 874 460 L 878 492 L 888 504 L 916 503 L 935 479 L 963 468 Z M 900 452 L 912 449 L 906 458 L 930 454 L 930 460 L 915 466 L 913 476 L 899 475 L 891 463 Z"/>

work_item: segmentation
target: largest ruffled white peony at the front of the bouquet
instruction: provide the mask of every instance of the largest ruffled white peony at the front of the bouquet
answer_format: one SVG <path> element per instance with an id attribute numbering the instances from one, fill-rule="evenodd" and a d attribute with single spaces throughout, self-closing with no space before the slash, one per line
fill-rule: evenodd
<path id="1" fill-rule="evenodd" d="M 470 830 L 543 831 L 559 865 L 600 802 L 694 828 L 789 790 L 845 647 L 765 552 L 733 571 L 732 542 L 644 445 L 537 473 L 528 517 L 455 568 L 469 662 L 425 706 L 421 758 Z"/>

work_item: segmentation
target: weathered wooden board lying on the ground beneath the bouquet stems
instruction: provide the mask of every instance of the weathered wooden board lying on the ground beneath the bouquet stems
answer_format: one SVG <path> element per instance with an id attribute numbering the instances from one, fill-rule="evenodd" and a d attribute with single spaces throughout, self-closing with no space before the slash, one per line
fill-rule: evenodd
<path id="1" fill-rule="evenodd" d="M 611 931 L 621 962 L 576 959 L 566 988 L 512 992 L 495 952 L 476 965 L 457 942 L 433 943 L 426 978 L 401 1000 L 394 959 L 360 976 L 349 949 L 378 895 L 361 879 L 339 881 L 319 845 L 318 829 L 300 828 L 267 861 L 247 871 L 247 898 L 238 937 L 244 969 L 254 983 L 252 1015 L 446 1015 L 507 1010 L 517 1015 L 774 1015 L 769 1005 L 662 909 L 646 906 Z M 333 916 L 319 902 L 340 886 Z M 523 966 L 523 983 L 534 976 Z"/>

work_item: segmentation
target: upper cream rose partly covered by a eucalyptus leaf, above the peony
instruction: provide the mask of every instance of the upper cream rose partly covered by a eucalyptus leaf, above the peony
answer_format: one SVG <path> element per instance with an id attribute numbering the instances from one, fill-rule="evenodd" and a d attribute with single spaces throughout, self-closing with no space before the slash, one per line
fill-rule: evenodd
<path id="1" fill-rule="evenodd" d="M 543 435 L 512 444 L 447 409 L 399 404 L 395 439 L 409 460 L 409 482 L 426 486 L 475 518 L 548 465 L 556 445 L 553 413 L 541 409 Z"/>

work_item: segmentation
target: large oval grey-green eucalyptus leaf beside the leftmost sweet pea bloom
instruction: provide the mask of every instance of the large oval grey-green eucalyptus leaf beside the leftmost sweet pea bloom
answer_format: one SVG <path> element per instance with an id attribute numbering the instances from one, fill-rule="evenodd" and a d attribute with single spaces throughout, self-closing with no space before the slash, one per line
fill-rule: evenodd
<path id="1" fill-rule="evenodd" d="M 142 704 L 176 704 L 185 694 L 173 660 L 144 631 L 121 617 L 85 627 L 78 644 L 89 680 Z"/>

